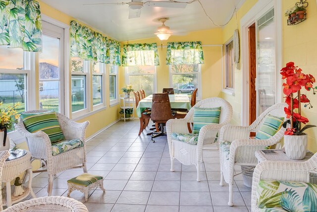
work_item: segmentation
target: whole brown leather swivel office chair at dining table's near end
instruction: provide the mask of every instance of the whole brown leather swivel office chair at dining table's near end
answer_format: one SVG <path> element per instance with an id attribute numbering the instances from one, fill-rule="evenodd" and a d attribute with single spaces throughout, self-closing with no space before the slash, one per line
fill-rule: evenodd
<path id="1" fill-rule="evenodd" d="M 169 119 L 174 119 L 172 109 L 170 107 L 168 93 L 154 93 L 152 98 L 151 120 L 157 128 L 156 133 L 152 133 L 151 141 L 159 136 L 166 136 L 164 133 L 164 125 Z"/>

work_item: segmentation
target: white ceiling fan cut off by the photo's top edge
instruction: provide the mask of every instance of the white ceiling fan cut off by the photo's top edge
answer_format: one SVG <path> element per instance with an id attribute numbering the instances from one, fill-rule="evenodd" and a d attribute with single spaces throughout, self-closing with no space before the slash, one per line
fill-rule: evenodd
<path id="1" fill-rule="evenodd" d="M 143 6 L 156 6 L 156 7 L 171 7 L 171 8 L 186 8 L 186 5 L 196 0 L 190 1 L 178 1 L 178 0 L 163 0 L 163 1 L 142 1 L 131 0 L 129 2 L 110 2 L 110 3 L 87 3 L 83 5 L 99 5 L 99 4 L 116 4 L 116 5 L 128 5 L 129 6 L 129 18 L 138 18 L 141 14 L 141 8 Z"/>

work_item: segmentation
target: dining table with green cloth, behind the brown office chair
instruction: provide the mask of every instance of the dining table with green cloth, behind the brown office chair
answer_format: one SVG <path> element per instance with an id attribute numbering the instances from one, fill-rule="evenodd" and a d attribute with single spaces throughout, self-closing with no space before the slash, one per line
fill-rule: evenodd
<path id="1" fill-rule="evenodd" d="M 169 102 L 171 108 L 182 108 L 190 110 L 192 108 L 187 94 L 169 94 Z M 149 95 L 139 102 L 136 108 L 138 117 L 141 117 L 141 112 L 152 107 L 152 95 Z"/>

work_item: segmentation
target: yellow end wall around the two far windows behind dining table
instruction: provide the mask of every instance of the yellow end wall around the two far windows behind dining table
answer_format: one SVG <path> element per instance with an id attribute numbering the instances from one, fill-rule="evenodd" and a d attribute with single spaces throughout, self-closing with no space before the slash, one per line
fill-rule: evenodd
<path id="1" fill-rule="evenodd" d="M 222 44 L 221 28 L 191 32 L 184 36 L 172 35 L 167 42 L 201 41 L 204 51 L 205 63 L 202 68 L 202 98 L 221 95 L 221 46 L 204 46 Z M 166 46 L 167 42 L 163 43 Z M 126 44 L 127 42 L 122 42 Z M 161 92 L 164 87 L 169 86 L 169 69 L 165 63 L 166 47 L 161 48 L 161 41 L 157 37 L 129 41 L 129 43 L 157 43 L 159 53 L 159 66 L 157 67 L 157 92 Z M 125 86 L 124 68 L 120 69 L 121 87 Z"/>

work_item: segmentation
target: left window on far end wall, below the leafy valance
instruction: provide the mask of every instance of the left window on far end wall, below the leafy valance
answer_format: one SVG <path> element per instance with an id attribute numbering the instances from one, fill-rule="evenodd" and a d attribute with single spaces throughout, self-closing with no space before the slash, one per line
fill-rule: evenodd
<path id="1" fill-rule="evenodd" d="M 131 84 L 134 90 L 143 89 L 146 95 L 156 92 L 156 67 L 155 66 L 128 66 L 126 83 Z"/>

